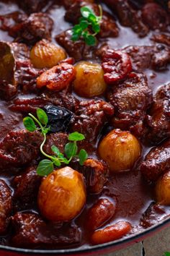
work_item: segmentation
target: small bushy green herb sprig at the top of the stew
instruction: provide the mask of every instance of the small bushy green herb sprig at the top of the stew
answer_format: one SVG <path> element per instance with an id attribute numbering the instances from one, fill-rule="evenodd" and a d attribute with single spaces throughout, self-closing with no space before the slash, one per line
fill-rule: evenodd
<path id="1" fill-rule="evenodd" d="M 88 46 L 97 44 L 96 35 L 100 32 L 100 24 L 102 20 L 102 7 L 99 5 L 99 16 L 94 14 L 94 11 L 89 7 L 81 7 L 81 18 L 79 24 L 72 29 L 71 39 L 75 42 L 79 38 L 84 38 Z"/>

